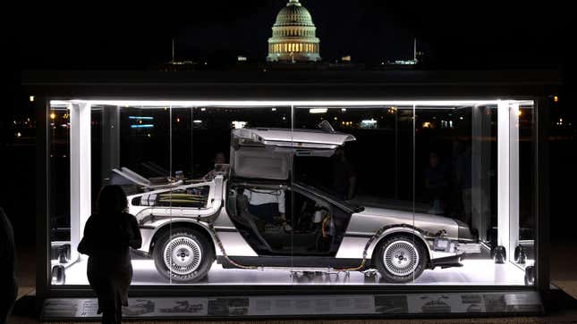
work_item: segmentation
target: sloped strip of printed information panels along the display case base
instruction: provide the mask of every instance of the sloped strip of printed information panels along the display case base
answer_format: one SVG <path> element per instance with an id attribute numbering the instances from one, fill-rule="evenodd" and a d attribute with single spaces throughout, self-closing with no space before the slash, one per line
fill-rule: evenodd
<path id="1" fill-rule="evenodd" d="M 126 320 L 454 317 L 544 312 L 537 292 L 130 298 Z M 97 320 L 96 298 L 49 298 L 42 320 Z"/>

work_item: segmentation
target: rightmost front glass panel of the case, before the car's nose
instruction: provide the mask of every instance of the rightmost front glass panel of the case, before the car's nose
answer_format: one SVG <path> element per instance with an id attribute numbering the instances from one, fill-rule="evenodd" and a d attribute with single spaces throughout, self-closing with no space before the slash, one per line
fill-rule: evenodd
<path id="1" fill-rule="evenodd" d="M 436 223 L 429 229 L 432 265 L 448 257 L 462 264 L 427 270 L 431 277 L 417 284 L 435 274 L 444 274 L 439 284 L 465 284 L 447 273 L 458 270 L 470 285 L 524 285 L 522 268 L 532 265 L 534 143 L 532 107 L 519 113 L 518 106 L 417 106 L 415 217 Z M 480 250 L 472 251 L 478 240 Z"/>

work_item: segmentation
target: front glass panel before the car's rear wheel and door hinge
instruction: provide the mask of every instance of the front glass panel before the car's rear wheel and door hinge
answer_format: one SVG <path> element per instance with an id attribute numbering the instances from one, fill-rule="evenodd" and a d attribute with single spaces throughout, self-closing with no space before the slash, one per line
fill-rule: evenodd
<path id="1" fill-rule="evenodd" d="M 286 254 L 288 260 L 291 253 L 291 235 L 281 230 L 282 221 L 290 221 L 289 170 L 277 164 L 285 154 L 265 145 L 270 138 L 233 131 L 288 129 L 289 108 L 207 105 L 173 107 L 172 113 L 172 168 L 182 186 L 167 196 L 174 245 L 155 246 L 176 251 L 172 284 L 285 283 L 288 276 L 254 278 L 250 271 L 259 255 Z"/>

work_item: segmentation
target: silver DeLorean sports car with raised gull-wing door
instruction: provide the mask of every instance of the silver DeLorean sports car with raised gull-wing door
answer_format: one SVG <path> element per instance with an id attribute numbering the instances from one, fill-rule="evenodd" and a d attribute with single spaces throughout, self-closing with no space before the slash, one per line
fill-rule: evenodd
<path id="1" fill-rule="evenodd" d="M 233 129 L 230 164 L 208 177 L 129 196 L 141 253 L 180 282 L 225 269 L 378 270 L 403 283 L 479 253 L 470 228 L 445 217 L 349 204 L 292 177 L 296 157 L 330 157 L 332 129 Z"/>

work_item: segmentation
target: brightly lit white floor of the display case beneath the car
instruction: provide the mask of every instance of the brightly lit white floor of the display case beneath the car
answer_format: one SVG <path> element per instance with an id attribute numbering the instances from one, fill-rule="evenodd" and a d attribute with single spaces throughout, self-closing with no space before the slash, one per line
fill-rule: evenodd
<path id="1" fill-rule="evenodd" d="M 528 261 L 531 262 L 531 261 Z M 532 262 L 531 262 L 532 263 Z M 491 259 L 469 259 L 462 261 L 460 268 L 425 270 L 415 280 L 418 285 L 524 285 L 524 271 L 510 262 L 495 264 Z M 66 285 L 87 285 L 87 260 L 76 262 L 66 270 Z M 134 275 L 132 285 L 167 285 L 171 282 L 158 274 L 154 261 L 138 259 L 132 261 Z M 174 282 L 173 282 L 174 283 Z M 223 269 L 214 264 L 208 277 L 196 285 L 392 285 L 380 280 L 380 276 L 369 277 L 352 271 L 310 274 L 290 270 L 237 270 Z"/>

